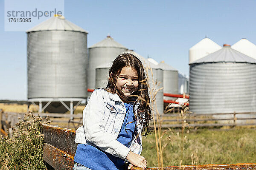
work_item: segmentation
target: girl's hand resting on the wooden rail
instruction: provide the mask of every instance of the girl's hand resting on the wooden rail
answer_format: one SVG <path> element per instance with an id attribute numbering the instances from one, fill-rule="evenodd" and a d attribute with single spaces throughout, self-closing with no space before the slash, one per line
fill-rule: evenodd
<path id="1" fill-rule="evenodd" d="M 147 161 L 143 156 L 140 156 L 139 154 L 129 152 L 128 155 L 126 156 L 126 159 L 134 166 L 136 167 L 141 167 L 143 170 L 147 167 Z M 128 169 L 130 167 L 131 169 L 131 164 L 129 164 Z"/>

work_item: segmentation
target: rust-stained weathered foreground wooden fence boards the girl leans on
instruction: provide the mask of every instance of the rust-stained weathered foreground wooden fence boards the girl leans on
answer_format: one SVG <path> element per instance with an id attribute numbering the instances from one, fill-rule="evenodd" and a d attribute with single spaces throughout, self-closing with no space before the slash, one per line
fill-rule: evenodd
<path id="1" fill-rule="evenodd" d="M 43 125 L 44 156 L 43 159 L 56 170 L 73 170 L 74 156 L 77 144 L 75 130 L 70 130 L 52 125 Z M 164 167 L 164 170 L 256 170 L 253 164 L 207 164 L 207 165 L 183 165 Z M 132 167 L 131 170 L 142 170 Z M 157 167 L 149 167 L 146 170 L 160 170 Z"/>

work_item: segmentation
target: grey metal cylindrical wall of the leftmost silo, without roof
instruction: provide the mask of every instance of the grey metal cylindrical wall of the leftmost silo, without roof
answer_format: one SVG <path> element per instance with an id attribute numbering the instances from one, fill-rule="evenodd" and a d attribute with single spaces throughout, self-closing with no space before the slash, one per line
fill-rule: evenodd
<path id="1" fill-rule="evenodd" d="M 28 33 L 28 98 L 87 96 L 87 34 Z"/>

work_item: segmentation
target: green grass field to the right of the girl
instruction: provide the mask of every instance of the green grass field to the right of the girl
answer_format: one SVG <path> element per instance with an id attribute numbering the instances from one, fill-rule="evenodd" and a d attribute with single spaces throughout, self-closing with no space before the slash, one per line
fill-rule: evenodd
<path id="1" fill-rule="evenodd" d="M 180 163 L 180 137 L 168 131 L 162 138 L 163 164 L 175 166 Z M 256 130 L 198 130 L 185 134 L 182 164 L 221 164 L 256 162 Z M 180 133 L 179 133 L 179 136 Z M 166 145 L 167 144 L 167 145 Z M 193 154 L 193 155 L 192 155 Z M 157 167 L 154 133 L 143 137 L 142 156 L 147 167 Z"/>

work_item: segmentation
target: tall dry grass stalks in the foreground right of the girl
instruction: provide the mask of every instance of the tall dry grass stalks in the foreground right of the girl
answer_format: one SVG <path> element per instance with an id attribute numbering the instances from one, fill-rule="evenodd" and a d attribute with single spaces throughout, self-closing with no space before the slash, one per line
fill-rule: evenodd
<path id="1" fill-rule="evenodd" d="M 182 106 L 182 109 L 180 110 L 180 113 L 178 114 L 178 118 L 181 120 L 181 133 L 177 133 L 177 135 L 175 133 L 172 132 L 172 129 L 169 130 L 165 130 L 162 131 L 162 119 L 160 117 L 160 113 L 157 110 L 157 104 L 156 104 L 156 96 L 157 93 L 160 90 L 163 90 L 163 87 L 160 87 L 160 84 L 162 82 L 157 82 L 157 80 L 155 81 L 154 79 L 157 79 L 157 77 L 153 77 L 153 70 L 152 68 L 150 68 L 149 65 L 147 65 L 145 67 L 145 74 L 146 74 L 146 83 L 148 86 L 148 93 L 150 96 L 150 103 L 148 103 L 148 105 L 150 105 L 152 113 L 153 113 L 153 124 L 154 124 L 154 137 L 155 137 L 155 147 L 156 147 L 156 152 L 157 152 L 157 165 L 154 164 L 154 166 L 158 166 L 161 167 L 161 170 L 163 170 L 163 166 L 164 166 L 164 160 L 163 157 L 165 155 L 165 148 L 167 147 L 167 145 L 169 143 L 175 142 L 175 144 L 177 144 L 177 146 L 180 149 L 180 154 L 179 154 L 179 165 L 183 164 L 183 156 L 184 156 L 184 144 L 187 141 L 187 136 L 185 135 L 185 133 L 189 133 L 189 130 L 187 130 L 185 132 L 185 130 L 187 128 L 189 128 L 189 124 L 186 123 L 186 116 L 187 116 L 187 112 L 188 112 L 188 107 L 185 105 Z M 183 94 L 183 98 L 185 98 L 185 94 Z M 172 111 L 174 108 L 169 108 L 169 105 L 165 108 L 164 113 L 168 113 L 170 111 Z M 165 136 L 165 134 L 170 134 L 166 140 L 163 139 L 163 137 Z M 176 140 L 173 140 L 173 138 L 177 138 Z M 151 155 L 154 155 L 153 153 Z M 193 156 L 196 155 L 192 154 L 192 159 Z M 178 160 L 178 159 L 177 159 Z M 193 159 L 194 160 L 194 159 Z"/>

